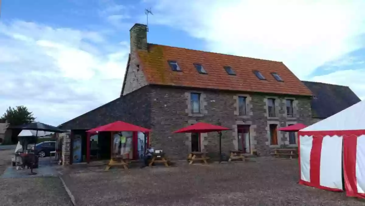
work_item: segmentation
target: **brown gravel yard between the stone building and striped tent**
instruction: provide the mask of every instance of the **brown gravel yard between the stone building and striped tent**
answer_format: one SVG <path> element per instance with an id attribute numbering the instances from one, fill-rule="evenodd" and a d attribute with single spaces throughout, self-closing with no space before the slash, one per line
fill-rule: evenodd
<path id="1" fill-rule="evenodd" d="M 84 167 L 84 166 L 83 166 Z M 297 160 L 132 168 L 84 167 L 64 173 L 78 205 L 365 205 L 344 193 L 297 184 Z"/>

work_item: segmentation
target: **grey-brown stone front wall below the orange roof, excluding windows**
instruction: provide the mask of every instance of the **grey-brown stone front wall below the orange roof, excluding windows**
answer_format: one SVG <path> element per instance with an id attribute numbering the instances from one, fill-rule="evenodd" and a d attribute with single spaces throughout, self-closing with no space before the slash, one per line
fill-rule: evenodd
<path id="1" fill-rule="evenodd" d="M 201 113 L 192 114 L 190 93 L 201 95 Z M 246 115 L 238 115 L 238 96 L 246 96 Z M 228 155 L 229 150 L 237 148 L 237 125 L 250 125 L 250 151 L 257 150 L 261 155 L 269 155 L 274 147 L 288 144 L 288 136 L 278 131 L 278 142 L 281 145 L 270 145 L 269 124 L 276 123 L 279 127 L 287 126 L 287 122 L 297 122 L 309 125 L 312 121 L 310 98 L 302 96 L 279 96 L 275 104 L 277 117 L 267 116 L 267 98 L 264 94 L 240 94 L 211 90 L 189 90 L 182 88 L 153 87 L 151 90 L 151 144 L 156 149 L 163 149 L 173 159 L 185 159 L 191 150 L 190 134 L 172 134 L 174 130 L 191 125 L 195 122 L 207 122 L 231 128 L 224 131 L 222 152 Z M 286 117 L 285 99 L 293 99 L 294 117 Z M 211 157 L 217 157 L 219 152 L 218 133 L 203 134 L 202 149 Z"/>

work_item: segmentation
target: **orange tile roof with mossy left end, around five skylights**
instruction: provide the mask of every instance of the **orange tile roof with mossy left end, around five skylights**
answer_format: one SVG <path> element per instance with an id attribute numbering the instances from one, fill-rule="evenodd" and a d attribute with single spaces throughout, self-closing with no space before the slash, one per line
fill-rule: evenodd
<path id="1" fill-rule="evenodd" d="M 149 84 L 195 88 L 223 89 L 311 96 L 312 92 L 283 62 L 203 52 L 178 47 L 148 44 L 148 52 L 138 51 L 142 70 Z M 182 72 L 173 71 L 168 60 L 177 61 Z M 194 63 L 203 65 L 207 75 L 197 72 Z M 224 66 L 231 66 L 236 76 L 228 75 Z M 258 70 L 266 80 L 259 80 Z M 283 82 L 271 75 L 276 72 Z"/>

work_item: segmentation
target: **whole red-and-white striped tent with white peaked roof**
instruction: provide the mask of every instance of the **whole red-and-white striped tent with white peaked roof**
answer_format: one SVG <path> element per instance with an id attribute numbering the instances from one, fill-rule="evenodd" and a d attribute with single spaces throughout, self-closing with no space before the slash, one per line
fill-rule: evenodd
<path id="1" fill-rule="evenodd" d="M 365 198 L 365 101 L 298 131 L 298 137 L 300 184 Z"/>

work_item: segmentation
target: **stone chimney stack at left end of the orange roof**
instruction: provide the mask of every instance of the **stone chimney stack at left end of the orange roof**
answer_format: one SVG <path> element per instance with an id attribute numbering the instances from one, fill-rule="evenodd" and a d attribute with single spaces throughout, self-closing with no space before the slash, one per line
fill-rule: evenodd
<path id="1" fill-rule="evenodd" d="M 131 35 L 131 53 L 140 49 L 147 51 L 147 25 L 134 24 L 129 32 Z"/>

